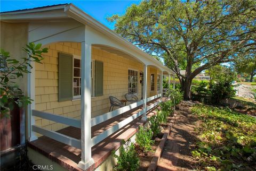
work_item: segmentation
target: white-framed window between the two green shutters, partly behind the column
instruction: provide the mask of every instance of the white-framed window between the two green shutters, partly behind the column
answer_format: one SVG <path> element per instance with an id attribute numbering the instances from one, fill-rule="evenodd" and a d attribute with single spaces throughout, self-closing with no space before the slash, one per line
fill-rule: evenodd
<path id="1" fill-rule="evenodd" d="M 81 98 L 81 56 L 73 55 L 73 99 Z M 94 97 L 94 60 L 91 62 L 91 96 Z"/>

